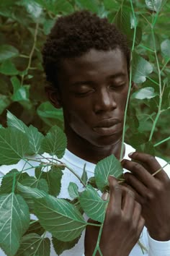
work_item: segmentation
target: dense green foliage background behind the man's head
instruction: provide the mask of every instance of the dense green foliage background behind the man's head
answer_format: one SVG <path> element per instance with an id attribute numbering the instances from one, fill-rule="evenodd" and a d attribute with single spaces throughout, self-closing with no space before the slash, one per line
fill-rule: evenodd
<path id="1" fill-rule="evenodd" d="M 1 0 L 0 1 L 0 123 L 6 127 L 6 110 L 47 132 L 54 124 L 63 128 L 62 111 L 48 103 L 44 93 L 45 74 L 42 70 L 42 45 L 57 17 L 77 9 L 89 9 L 126 33 L 133 53 L 142 56 L 137 64 L 144 69 L 131 97 L 125 140 L 135 148 L 148 150 L 170 159 L 170 3 L 161 0 Z M 156 61 L 156 59 L 158 61 Z M 135 60 L 135 57 L 134 57 Z M 134 67 L 137 64 L 134 61 Z M 151 69 L 151 72 L 148 70 Z M 133 75 L 133 78 L 135 74 Z M 161 80 L 159 80 L 161 78 Z M 160 106 L 160 86 L 161 109 Z M 146 88 L 146 90 L 140 90 Z M 148 89 L 149 88 L 149 89 Z M 158 122 L 151 136 L 153 121 Z M 150 140 L 148 142 L 148 140 Z M 146 149 L 147 148 L 147 149 Z M 155 152 L 156 151 L 156 152 Z"/>

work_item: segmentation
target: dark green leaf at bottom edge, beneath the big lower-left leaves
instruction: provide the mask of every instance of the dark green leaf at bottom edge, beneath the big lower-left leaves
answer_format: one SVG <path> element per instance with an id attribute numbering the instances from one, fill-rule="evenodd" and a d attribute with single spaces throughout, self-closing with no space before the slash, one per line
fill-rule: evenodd
<path id="1" fill-rule="evenodd" d="M 50 256 L 50 239 L 32 233 L 22 237 L 16 256 Z"/>

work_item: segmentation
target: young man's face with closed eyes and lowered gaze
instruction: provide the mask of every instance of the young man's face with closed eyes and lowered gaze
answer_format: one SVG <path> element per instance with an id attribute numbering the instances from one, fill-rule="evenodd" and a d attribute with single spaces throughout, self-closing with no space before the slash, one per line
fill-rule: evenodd
<path id="1" fill-rule="evenodd" d="M 65 59 L 58 81 L 68 140 L 106 147 L 121 139 L 129 79 L 119 48 Z"/>

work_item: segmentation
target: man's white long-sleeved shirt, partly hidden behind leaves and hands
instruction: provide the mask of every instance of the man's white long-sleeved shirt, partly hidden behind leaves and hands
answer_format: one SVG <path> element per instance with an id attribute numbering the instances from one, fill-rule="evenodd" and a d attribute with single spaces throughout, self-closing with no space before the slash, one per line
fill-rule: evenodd
<path id="1" fill-rule="evenodd" d="M 130 145 L 125 145 L 125 158 L 130 159 L 128 157 L 128 154 L 130 152 L 134 152 L 135 150 Z M 34 158 L 32 158 L 32 161 Z M 161 158 L 157 158 L 158 162 L 161 164 L 161 166 L 165 166 L 166 161 L 164 161 Z M 94 163 L 89 163 L 84 161 L 83 159 L 77 157 L 76 155 L 73 155 L 73 153 L 66 150 L 65 155 L 61 159 L 63 163 L 66 163 L 67 166 L 73 168 L 74 171 L 76 171 L 76 174 L 79 176 L 83 173 L 84 163 L 86 163 L 86 172 L 88 175 L 88 178 L 91 176 L 94 176 Z M 0 166 L 0 176 L 4 176 L 7 172 L 12 170 L 12 168 L 17 168 L 18 170 L 21 170 L 24 165 L 24 161 L 19 161 L 17 165 L 12 166 Z M 36 165 L 36 162 L 35 162 Z M 30 167 L 30 166 L 28 166 Z M 27 166 L 25 166 L 27 168 Z M 166 173 L 170 177 L 170 166 L 166 166 L 164 168 Z M 34 176 L 34 169 L 30 169 L 27 171 L 27 173 L 30 176 Z M 65 169 L 63 171 L 63 177 L 62 177 L 62 185 L 61 185 L 61 193 L 58 197 L 61 198 L 70 198 L 68 195 L 68 185 L 70 182 L 74 182 L 78 185 L 79 191 L 83 189 L 82 184 L 79 182 L 79 179 L 74 176 L 71 171 L 68 169 Z M 79 239 L 78 244 L 75 245 L 72 249 L 66 250 L 62 253 L 61 256 L 83 256 L 84 255 L 84 234 L 85 231 L 81 235 L 81 239 Z M 48 234 L 48 237 L 50 237 L 50 234 Z M 143 232 L 140 236 L 140 243 L 144 245 L 148 249 L 148 252 L 144 251 L 145 256 L 170 256 L 170 241 L 167 242 L 158 242 L 154 239 L 152 239 L 147 232 L 147 229 L 144 228 Z M 5 256 L 4 252 L 0 249 L 0 256 Z M 50 256 L 56 256 L 56 253 L 53 249 L 53 246 L 51 246 L 51 252 Z M 130 252 L 129 256 L 143 256 L 143 252 L 138 244 L 135 244 L 135 247 L 133 247 L 132 251 Z"/>

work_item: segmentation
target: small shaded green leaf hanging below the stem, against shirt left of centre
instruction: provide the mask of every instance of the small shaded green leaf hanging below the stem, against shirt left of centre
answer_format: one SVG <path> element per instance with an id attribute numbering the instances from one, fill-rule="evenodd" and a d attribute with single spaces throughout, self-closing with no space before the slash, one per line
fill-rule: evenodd
<path id="1" fill-rule="evenodd" d="M 50 171 L 40 171 L 40 168 L 35 169 L 35 175 L 37 179 L 41 177 L 48 183 L 49 194 L 58 196 L 61 192 L 61 178 L 63 176 L 63 167 L 52 166 Z"/>

